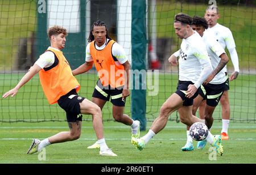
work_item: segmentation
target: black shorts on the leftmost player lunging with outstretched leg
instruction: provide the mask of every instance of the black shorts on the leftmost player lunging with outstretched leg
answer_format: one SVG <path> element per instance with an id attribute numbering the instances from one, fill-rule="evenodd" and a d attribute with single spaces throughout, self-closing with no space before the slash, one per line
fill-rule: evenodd
<path id="1" fill-rule="evenodd" d="M 65 110 L 68 122 L 82 121 L 79 103 L 84 99 L 84 97 L 77 95 L 76 89 L 72 89 L 72 91 L 60 97 L 58 104 Z"/>

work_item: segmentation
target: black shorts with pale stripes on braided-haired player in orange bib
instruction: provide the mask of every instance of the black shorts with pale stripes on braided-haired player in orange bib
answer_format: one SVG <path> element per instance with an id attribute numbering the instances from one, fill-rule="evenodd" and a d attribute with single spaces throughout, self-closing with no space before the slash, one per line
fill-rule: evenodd
<path id="1" fill-rule="evenodd" d="M 93 91 L 93 97 L 105 101 L 109 101 L 111 96 L 111 103 L 115 106 L 125 106 L 125 99 L 122 99 L 123 86 L 112 88 L 110 86 L 103 86 L 101 80 L 97 81 L 96 87 Z"/>

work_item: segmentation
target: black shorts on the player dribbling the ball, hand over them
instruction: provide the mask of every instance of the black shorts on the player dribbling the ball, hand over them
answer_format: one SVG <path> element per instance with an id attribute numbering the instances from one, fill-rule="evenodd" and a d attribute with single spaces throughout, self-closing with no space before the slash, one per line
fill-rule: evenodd
<path id="1" fill-rule="evenodd" d="M 193 105 L 193 99 L 195 99 L 195 97 L 197 97 L 198 95 L 198 90 L 196 91 L 195 95 L 193 95 L 193 97 L 191 97 L 190 99 L 188 97 L 185 97 L 185 91 L 188 90 L 188 86 L 189 84 L 194 84 L 193 82 L 189 82 L 189 81 L 180 81 L 177 84 L 177 91 L 175 93 L 177 93 L 177 95 L 179 95 L 181 97 L 181 99 L 183 100 L 183 106 L 191 106 Z"/>

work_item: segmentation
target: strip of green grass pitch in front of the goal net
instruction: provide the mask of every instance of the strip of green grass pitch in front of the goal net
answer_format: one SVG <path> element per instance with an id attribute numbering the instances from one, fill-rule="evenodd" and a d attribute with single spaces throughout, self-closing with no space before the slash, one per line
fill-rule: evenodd
<path id="1" fill-rule="evenodd" d="M 147 123 L 148 127 L 151 122 Z M 224 155 L 209 160 L 209 144 L 204 150 L 182 152 L 185 144 L 185 126 L 182 123 L 168 121 L 166 128 L 157 134 L 142 151 L 131 144 L 130 127 L 117 122 L 104 122 L 106 143 L 117 157 L 99 155 L 98 149 L 88 150 L 96 141 L 92 122 L 82 122 L 82 134 L 79 140 L 52 144 L 46 147 L 46 160 L 38 159 L 38 154 L 27 155 L 32 138 L 47 138 L 60 131 L 68 131 L 66 122 L 40 123 L 1 123 L 0 124 L 0 163 L 81 163 L 81 164 L 222 164 L 256 162 L 256 127 L 253 123 L 230 123 L 230 140 L 224 140 Z M 214 122 L 212 133 L 219 134 L 221 123 Z M 145 131 L 141 135 L 146 134 Z M 193 142 L 196 147 L 197 142 Z"/>

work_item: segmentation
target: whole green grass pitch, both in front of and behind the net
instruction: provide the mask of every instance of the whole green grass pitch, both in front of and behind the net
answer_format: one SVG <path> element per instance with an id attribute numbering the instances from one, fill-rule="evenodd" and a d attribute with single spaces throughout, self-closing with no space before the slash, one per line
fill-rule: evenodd
<path id="1" fill-rule="evenodd" d="M 0 74 L 0 92 L 14 87 L 24 74 Z M 151 121 L 157 117 L 160 105 L 175 91 L 177 75 L 160 74 L 158 96 L 147 96 L 147 130 Z M 77 76 L 81 83 L 81 95 L 91 96 L 97 76 L 83 74 Z M 46 121 L 51 113 L 58 115 L 63 122 L 0 122 L 1 152 L 0 163 L 255 163 L 255 75 L 240 75 L 230 83 L 230 104 L 232 121 L 230 122 L 230 140 L 224 141 L 224 156 L 216 161 L 209 160 L 209 146 L 205 150 L 182 152 L 185 144 L 185 126 L 182 123 L 168 121 L 167 127 L 151 140 L 146 148 L 139 152 L 130 142 L 130 127 L 113 121 L 104 122 L 105 138 L 108 146 L 118 157 L 101 157 L 99 150 L 88 150 L 87 146 L 96 140 L 91 121 L 82 123 L 79 140 L 53 144 L 46 148 L 46 161 L 38 160 L 38 155 L 26 155 L 32 138 L 47 138 L 60 131 L 67 131 L 65 114 L 59 106 L 49 106 L 42 93 L 38 76 L 19 90 L 14 98 L 1 99 L 2 119 L 36 119 Z M 89 98 L 90 99 L 90 98 Z M 15 106 L 16 105 L 16 106 Z M 25 107 L 24 107 L 25 106 Z M 40 110 L 39 110 L 40 109 Z M 6 113 L 9 110 L 11 114 Z M 108 112 L 110 114 L 108 114 Z M 126 113 L 130 112 L 130 99 L 127 100 Z M 38 115 L 38 116 L 36 116 Z M 171 118 L 174 118 L 172 114 Z M 175 116 L 176 117 L 176 116 Z M 90 119 L 90 116 L 84 115 Z M 219 112 L 214 113 L 213 134 L 220 134 Z M 111 104 L 105 106 L 104 119 L 112 119 Z M 248 120 L 252 119 L 252 120 Z M 237 122 L 240 121 L 240 122 Z M 246 123 L 244 121 L 247 121 Z M 146 134 L 145 131 L 141 135 Z M 196 142 L 194 142 L 194 147 Z"/>

